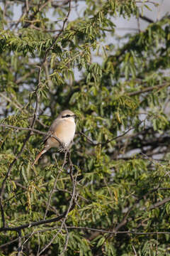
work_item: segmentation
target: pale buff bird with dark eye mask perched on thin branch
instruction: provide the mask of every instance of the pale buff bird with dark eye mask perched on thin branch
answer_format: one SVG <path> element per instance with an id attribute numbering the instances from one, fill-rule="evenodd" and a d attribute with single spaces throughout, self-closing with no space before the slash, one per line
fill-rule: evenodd
<path id="1" fill-rule="evenodd" d="M 69 145 L 71 144 L 76 131 L 75 117 L 76 114 L 71 110 L 64 110 L 59 114 L 59 116 L 52 122 L 50 129 L 45 135 L 43 139 L 45 146 L 38 156 L 35 157 L 32 166 L 38 161 L 42 154 L 45 154 L 45 152 L 52 147 L 69 149 Z M 55 137 L 57 138 L 55 139 Z"/>

